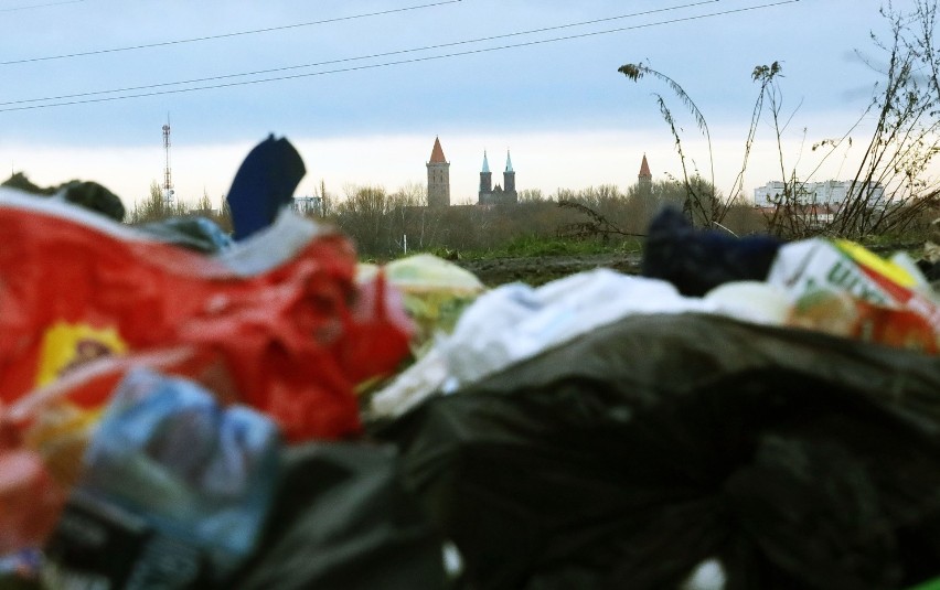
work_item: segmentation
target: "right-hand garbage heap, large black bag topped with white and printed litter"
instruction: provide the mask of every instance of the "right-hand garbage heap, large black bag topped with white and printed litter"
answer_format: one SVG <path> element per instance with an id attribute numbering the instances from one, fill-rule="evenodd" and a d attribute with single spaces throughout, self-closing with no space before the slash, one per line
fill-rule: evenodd
<path id="1" fill-rule="evenodd" d="M 940 307 L 917 265 L 666 211 L 644 275 L 493 289 L 373 396 L 468 587 L 936 577 Z"/>

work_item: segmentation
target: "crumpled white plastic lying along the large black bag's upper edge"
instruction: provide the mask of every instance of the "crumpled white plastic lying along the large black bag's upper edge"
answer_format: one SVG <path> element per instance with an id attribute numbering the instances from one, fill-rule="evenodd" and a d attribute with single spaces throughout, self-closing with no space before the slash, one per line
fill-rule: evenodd
<path id="1" fill-rule="evenodd" d="M 400 416 L 438 391 L 453 391 L 630 314 L 716 311 L 661 280 L 596 269 L 538 288 L 511 283 L 480 296 L 424 357 L 372 397 L 371 418 Z"/>

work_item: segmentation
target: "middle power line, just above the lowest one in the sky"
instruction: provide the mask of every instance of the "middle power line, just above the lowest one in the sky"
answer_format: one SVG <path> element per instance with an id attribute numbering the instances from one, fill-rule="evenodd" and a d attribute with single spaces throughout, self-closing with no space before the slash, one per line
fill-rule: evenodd
<path id="1" fill-rule="evenodd" d="M 149 89 L 152 89 L 152 88 L 163 88 L 163 87 L 167 87 L 167 86 L 181 86 L 181 85 L 185 85 L 185 84 L 200 84 L 200 83 L 205 83 L 205 82 L 216 82 L 216 81 L 222 81 L 222 79 L 241 78 L 241 77 L 246 77 L 246 76 L 260 76 L 260 75 L 266 75 L 266 74 L 276 74 L 278 72 L 290 72 L 290 71 L 293 71 L 293 69 L 303 69 L 303 68 L 309 68 L 309 67 L 322 67 L 322 66 L 325 66 L 325 65 L 335 65 L 335 64 L 341 64 L 341 63 L 359 62 L 359 61 L 363 61 L 363 60 L 375 60 L 375 58 L 378 58 L 378 57 L 391 57 L 393 55 L 403 55 L 403 54 L 407 54 L 407 53 L 417 53 L 417 52 L 424 52 L 424 51 L 430 51 L 430 50 L 440 50 L 440 49 L 445 49 L 445 47 L 453 47 L 453 46 L 458 46 L 458 45 L 482 43 L 482 42 L 485 42 L 485 41 L 496 41 L 496 40 L 500 40 L 500 39 L 509 39 L 509 37 L 530 35 L 530 34 L 535 34 L 535 33 L 546 33 L 546 32 L 549 32 L 549 31 L 572 29 L 572 28 L 576 28 L 576 26 L 584 26 L 584 25 L 588 25 L 588 24 L 598 24 L 598 23 L 602 23 L 602 22 L 610 22 L 610 21 L 630 19 L 630 18 L 635 18 L 635 17 L 647 17 L 647 15 L 654 14 L 654 13 L 658 13 L 658 12 L 669 12 L 669 11 L 673 11 L 673 10 L 682 10 L 682 9 L 686 9 L 686 8 L 694 8 L 694 7 L 698 7 L 698 6 L 702 6 L 702 4 L 708 4 L 708 3 L 720 2 L 720 1 L 722 0 L 699 0 L 697 2 L 692 2 L 692 3 L 688 3 L 688 4 L 681 4 L 681 6 L 676 6 L 676 7 L 660 8 L 660 9 L 641 11 L 641 12 L 633 12 L 633 13 L 630 13 L 630 14 L 620 14 L 620 15 L 617 15 L 617 17 L 606 17 L 606 18 L 602 18 L 602 19 L 594 19 L 594 20 L 589 20 L 589 21 L 580 21 L 580 22 L 574 22 L 574 23 L 567 23 L 567 24 L 559 24 L 559 25 L 555 25 L 555 26 L 544 26 L 544 28 L 541 28 L 541 29 L 531 29 L 528 31 L 517 31 L 517 32 L 514 32 L 514 33 L 504 33 L 504 34 L 500 34 L 500 35 L 491 35 L 491 36 L 484 36 L 484 37 L 472 39 L 472 40 L 455 41 L 455 42 L 450 42 L 450 43 L 440 43 L 440 44 L 437 44 L 437 45 L 425 45 L 423 47 L 397 50 L 397 51 L 389 51 L 389 52 L 384 52 L 384 53 L 374 53 L 374 54 L 371 54 L 371 55 L 361 55 L 361 56 L 357 56 L 357 57 L 343 57 L 343 58 L 340 58 L 340 60 L 330 60 L 330 61 L 325 61 L 325 62 L 316 62 L 316 63 L 311 63 L 311 64 L 275 67 L 275 68 L 270 68 L 270 69 L 257 69 L 255 72 L 244 72 L 244 73 L 241 73 L 241 74 L 226 74 L 226 75 L 222 75 L 222 76 L 192 78 L 192 79 L 178 81 L 178 82 L 164 82 L 164 83 L 159 83 L 159 84 L 147 84 L 147 85 L 142 85 L 142 86 L 128 86 L 128 87 L 124 87 L 124 88 L 114 88 L 114 89 L 110 89 L 110 90 L 94 90 L 94 92 L 88 92 L 88 93 L 76 93 L 76 94 L 66 94 L 66 95 L 60 95 L 60 96 L 47 96 L 47 97 L 44 97 L 44 98 L 28 98 L 28 99 L 22 99 L 22 100 L 10 100 L 10 101 L 6 101 L 6 103 L 0 101 L 0 106 L 24 105 L 24 104 L 29 104 L 29 103 L 45 103 L 45 101 L 50 101 L 50 100 L 64 100 L 66 98 L 82 98 L 82 97 L 86 97 L 86 96 L 100 96 L 100 95 L 106 95 L 106 94 L 129 93 L 129 92 L 137 92 L 137 90 L 149 90 Z"/>

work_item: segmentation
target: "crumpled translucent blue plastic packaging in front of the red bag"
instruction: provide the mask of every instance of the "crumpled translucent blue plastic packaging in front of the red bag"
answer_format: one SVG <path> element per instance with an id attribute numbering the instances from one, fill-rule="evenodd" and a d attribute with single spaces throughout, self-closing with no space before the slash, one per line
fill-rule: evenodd
<path id="1" fill-rule="evenodd" d="M 254 549 L 279 446 L 277 427 L 254 410 L 222 408 L 186 379 L 131 372 L 45 545 L 44 580 L 190 588 L 223 579 Z"/>

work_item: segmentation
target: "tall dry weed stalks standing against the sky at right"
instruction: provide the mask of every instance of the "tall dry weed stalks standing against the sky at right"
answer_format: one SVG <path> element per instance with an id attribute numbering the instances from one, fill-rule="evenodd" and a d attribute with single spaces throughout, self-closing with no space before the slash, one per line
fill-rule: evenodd
<path id="1" fill-rule="evenodd" d="M 875 87 L 868 107 L 845 135 L 824 139 L 813 146 L 813 152 L 818 152 L 820 159 L 810 173 L 802 178 L 798 175 L 795 167 L 788 167 L 781 140 L 797 111 L 794 109 L 789 115 L 783 111 L 779 84 L 782 66 L 780 62 L 773 62 L 759 65 L 751 73 L 751 78 L 760 88 L 745 141 L 741 171 L 729 194 L 738 195 L 744 190 L 744 173 L 757 124 L 765 116 L 765 106 L 768 106 L 767 115 L 776 136 L 783 183 L 780 194 L 773 197 L 773 212 L 767 218 L 771 233 L 789 238 L 825 234 L 864 239 L 869 235 L 904 232 L 922 218 L 925 212 L 940 204 L 937 180 L 931 180 L 928 174 L 931 162 L 940 153 L 940 51 L 934 41 L 937 0 L 916 0 L 915 8 L 909 12 L 897 11 L 888 2 L 886 8 L 880 9 L 880 13 L 891 28 L 891 36 L 887 41 L 872 35 L 873 42 L 887 58 L 885 68 L 876 68 L 883 79 Z M 675 81 L 642 63 L 626 64 L 619 72 L 632 81 L 652 75 L 665 82 L 693 115 L 708 140 L 711 161 L 711 139 L 705 119 Z M 718 224 L 731 202 L 725 202 L 714 191 L 714 184 L 708 187 L 706 183 L 704 190 L 696 189 L 694 179 L 697 174 L 691 175 L 687 170 L 682 138 L 673 115 L 663 97 L 655 96 L 682 163 L 686 187 L 683 211 L 696 223 Z M 872 115 L 876 124 L 870 137 L 866 141 L 853 143 L 852 133 L 857 132 L 862 121 Z M 836 152 L 847 152 L 858 144 L 863 153 L 846 197 L 840 203 L 827 203 L 826 206 L 831 206 L 829 214 L 820 215 L 814 195 L 808 189 L 810 180 L 829 158 Z"/>

